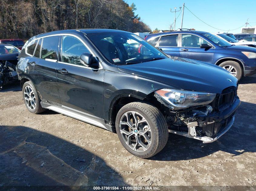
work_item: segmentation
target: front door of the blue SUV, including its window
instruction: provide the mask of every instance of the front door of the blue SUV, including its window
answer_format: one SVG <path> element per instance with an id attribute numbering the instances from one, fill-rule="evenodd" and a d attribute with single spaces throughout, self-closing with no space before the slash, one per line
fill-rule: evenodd
<path id="1" fill-rule="evenodd" d="M 182 34 L 180 57 L 213 63 L 214 48 L 200 48 L 201 44 L 209 43 L 196 35 Z"/>

